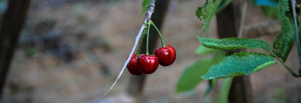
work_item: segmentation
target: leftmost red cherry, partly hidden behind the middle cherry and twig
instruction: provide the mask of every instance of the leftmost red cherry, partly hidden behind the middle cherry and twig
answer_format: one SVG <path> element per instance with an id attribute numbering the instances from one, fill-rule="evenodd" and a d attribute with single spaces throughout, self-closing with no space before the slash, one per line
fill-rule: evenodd
<path id="1" fill-rule="evenodd" d="M 126 65 L 126 68 L 127 68 L 128 72 L 133 75 L 141 75 L 142 74 L 142 72 L 139 71 L 139 69 L 137 67 L 137 54 L 132 55 L 128 64 Z"/>

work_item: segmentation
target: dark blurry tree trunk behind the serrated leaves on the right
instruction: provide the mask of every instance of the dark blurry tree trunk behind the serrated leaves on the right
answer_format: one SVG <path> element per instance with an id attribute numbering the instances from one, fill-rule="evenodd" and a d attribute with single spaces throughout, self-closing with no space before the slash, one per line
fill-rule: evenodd
<path id="1" fill-rule="evenodd" d="M 216 15 L 219 38 L 237 37 L 238 27 L 235 9 L 239 8 L 235 8 L 232 2 Z M 240 52 L 240 50 L 229 51 L 228 55 L 235 52 Z M 253 102 L 252 88 L 248 76 L 234 77 L 228 99 L 231 103 Z"/>

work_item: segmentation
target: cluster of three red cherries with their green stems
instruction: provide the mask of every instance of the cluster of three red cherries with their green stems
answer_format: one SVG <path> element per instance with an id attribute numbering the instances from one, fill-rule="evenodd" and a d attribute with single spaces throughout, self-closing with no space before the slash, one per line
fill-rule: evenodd
<path id="1" fill-rule="evenodd" d="M 148 31 L 149 26 L 153 25 L 155 29 L 158 31 L 162 47 L 158 48 L 155 51 L 155 55 L 148 54 Z M 169 66 L 172 65 L 176 60 L 176 50 L 170 45 L 165 45 L 162 39 L 162 35 L 155 26 L 152 21 L 148 21 L 148 30 L 147 30 L 147 42 L 146 42 L 146 54 L 140 55 L 141 44 L 142 44 L 143 36 L 141 37 L 141 43 L 138 55 L 133 54 L 129 60 L 129 63 L 126 65 L 127 70 L 132 75 L 141 75 L 141 74 L 152 74 L 157 69 L 159 64 L 162 66 Z"/>

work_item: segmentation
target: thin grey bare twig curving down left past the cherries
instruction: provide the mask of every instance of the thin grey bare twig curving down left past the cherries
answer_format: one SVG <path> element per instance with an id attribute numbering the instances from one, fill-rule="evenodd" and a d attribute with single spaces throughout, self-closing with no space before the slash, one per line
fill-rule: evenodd
<path id="1" fill-rule="evenodd" d="M 103 94 L 103 96 L 102 96 L 100 99 L 98 99 L 98 100 L 96 101 L 96 103 L 99 102 L 99 101 L 100 101 L 100 100 L 101 100 L 101 99 L 102 99 L 102 98 L 103 98 L 103 97 L 104 97 L 104 96 L 105 96 L 105 95 L 113 88 L 113 86 L 116 84 L 117 80 L 120 78 L 120 76 L 121 76 L 123 70 L 125 69 L 126 65 L 128 64 L 128 62 L 129 62 L 131 56 L 133 55 L 133 52 L 134 52 L 134 50 L 135 50 L 135 48 L 136 48 L 136 46 L 137 46 L 137 44 L 138 44 L 138 41 L 139 41 L 139 39 L 140 39 L 140 37 L 141 37 L 141 34 L 142 34 L 142 32 L 143 32 L 143 30 L 144 30 L 144 28 L 145 28 L 145 26 L 146 26 L 147 21 L 149 21 L 150 18 L 152 18 L 152 15 L 153 15 L 153 13 L 154 13 L 154 9 L 155 9 L 155 0 L 152 0 L 152 2 L 151 2 L 150 5 L 149 5 L 149 9 L 148 9 L 148 11 L 147 11 L 147 17 L 146 17 L 146 19 L 144 20 L 144 23 L 143 23 L 143 25 L 142 25 L 142 27 L 141 27 L 141 29 L 140 29 L 140 31 L 139 31 L 137 37 L 135 38 L 135 44 L 134 44 L 134 47 L 133 47 L 132 51 L 130 52 L 128 58 L 126 59 L 126 61 L 125 61 L 124 65 L 123 65 L 123 67 L 122 67 L 122 69 L 121 69 L 119 75 L 117 76 L 116 80 L 114 81 L 113 85 L 109 88 L 109 90 L 108 90 L 107 92 L 105 92 L 105 93 Z"/>

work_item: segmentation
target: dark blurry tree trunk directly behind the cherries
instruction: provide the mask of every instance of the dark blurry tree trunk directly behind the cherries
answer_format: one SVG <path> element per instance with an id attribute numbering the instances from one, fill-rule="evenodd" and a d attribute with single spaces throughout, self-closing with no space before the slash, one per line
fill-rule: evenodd
<path id="1" fill-rule="evenodd" d="M 170 0 L 157 0 L 155 3 L 155 10 L 152 16 L 152 21 L 157 26 L 159 30 L 161 30 L 161 26 L 164 20 L 164 16 L 166 11 L 168 10 L 168 4 Z M 143 16 L 142 16 L 143 17 Z M 163 34 L 162 34 L 163 35 Z M 149 30 L 149 40 L 148 40 L 148 51 L 149 54 L 154 54 L 156 48 L 157 40 L 159 39 L 159 34 L 153 26 L 150 26 Z M 146 53 L 146 37 L 143 38 L 143 44 L 141 48 L 141 54 Z M 140 98 L 143 92 L 143 83 L 145 81 L 146 75 L 142 74 L 140 76 L 131 75 L 130 82 L 128 85 L 127 92 L 132 96 L 136 97 L 135 102 L 140 102 Z"/>

